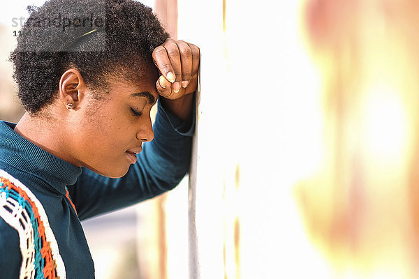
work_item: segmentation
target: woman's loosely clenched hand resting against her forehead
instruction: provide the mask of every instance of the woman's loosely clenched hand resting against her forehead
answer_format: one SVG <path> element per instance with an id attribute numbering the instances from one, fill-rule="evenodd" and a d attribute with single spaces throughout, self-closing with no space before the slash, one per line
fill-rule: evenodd
<path id="1" fill-rule="evenodd" d="M 176 100 L 196 91 L 199 47 L 183 40 L 168 38 L 163 45 L 154 49 L 153 60 L 161 73 L 156 82 L 160 96 Z"/>

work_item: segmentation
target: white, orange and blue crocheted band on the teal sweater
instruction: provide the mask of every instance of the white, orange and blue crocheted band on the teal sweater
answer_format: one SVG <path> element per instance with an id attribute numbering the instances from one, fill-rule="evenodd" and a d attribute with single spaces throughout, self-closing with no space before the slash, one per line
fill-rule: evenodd
<path id="1" fill-rule="evenodd" d="M 20 279 L 66 278 L 64 262 L 41 202 L 1 169 L 0 217 L 19 233 Z"/>

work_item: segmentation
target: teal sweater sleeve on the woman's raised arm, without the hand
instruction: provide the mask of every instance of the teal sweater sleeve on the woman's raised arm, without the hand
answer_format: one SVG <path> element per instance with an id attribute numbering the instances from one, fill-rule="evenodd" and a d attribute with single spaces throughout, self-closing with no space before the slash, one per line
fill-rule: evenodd
<path id="1" fill-rule="evenodd" d="M 125 176 L 110 179 L 82 168 L 77 183 L 68 186 L 80 220 L 160 195 L 188 172 L 194 121 L 185 123 L 158 105 L 154 140 L 143 144 Z"/>

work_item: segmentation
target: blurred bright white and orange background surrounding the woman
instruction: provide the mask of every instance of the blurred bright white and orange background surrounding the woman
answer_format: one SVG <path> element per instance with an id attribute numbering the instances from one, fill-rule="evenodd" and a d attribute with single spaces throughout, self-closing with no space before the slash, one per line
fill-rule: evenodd
<path id="1" fill-rule="evenodd" d="M 0 10 L 0 118 L 22 108 Z M 150 0 L 201 50 L 189 177 L 83 223 L 96 278 L 418 278 L 419 4 Z"/>

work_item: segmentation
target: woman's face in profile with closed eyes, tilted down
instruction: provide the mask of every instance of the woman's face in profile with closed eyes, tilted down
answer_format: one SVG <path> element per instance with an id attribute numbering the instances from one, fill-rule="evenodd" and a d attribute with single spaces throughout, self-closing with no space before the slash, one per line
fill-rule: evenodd
<path id="1" fill-rule="evenodd" d="M 73 157 L 98 174 L 121 177 L 135 163 L 142 142 L 153 140 L 150 110 L 156 103 L 156 79 L 144 75 L 140 84 L 109 82 L 103 100 L 88 94 L 87 108 L 74 119 Z"/>

